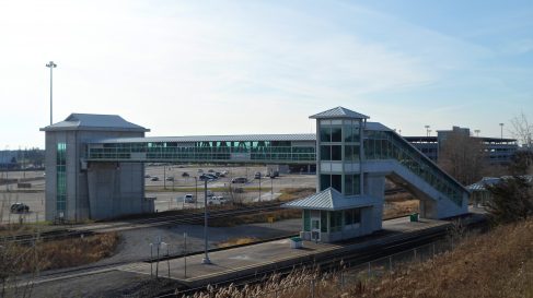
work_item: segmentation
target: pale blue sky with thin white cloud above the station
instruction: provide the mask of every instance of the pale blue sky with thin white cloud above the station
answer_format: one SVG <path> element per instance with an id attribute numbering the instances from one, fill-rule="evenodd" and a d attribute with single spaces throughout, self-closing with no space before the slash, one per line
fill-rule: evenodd
<path id="1" fill-rule="evenodd" d="M 117 114 L 149 135 L 312 132 L 344 106 L 424 135 L 533 120 L 533 1 L 0 1 L 0 150 Z"/>

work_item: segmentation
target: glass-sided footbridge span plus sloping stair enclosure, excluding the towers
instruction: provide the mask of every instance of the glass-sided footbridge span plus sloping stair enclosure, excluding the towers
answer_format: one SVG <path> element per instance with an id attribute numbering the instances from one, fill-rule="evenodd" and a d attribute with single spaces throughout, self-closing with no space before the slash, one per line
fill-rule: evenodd
<path id="1" fill-rule="evenodd" d="M 463 205 L 467 190 L 381 123 L 364 129 L 363 172 L 381 172 L 417 196 Z M 116 138 L 86 145 L 86 162 L 316 164 L 316 134 Z M 345 153 L 346 154 L 346 153 Z"/>

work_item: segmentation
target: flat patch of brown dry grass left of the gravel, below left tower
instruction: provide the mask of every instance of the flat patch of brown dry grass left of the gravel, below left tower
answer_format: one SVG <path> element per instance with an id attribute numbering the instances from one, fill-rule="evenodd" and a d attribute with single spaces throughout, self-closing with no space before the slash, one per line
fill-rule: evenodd
<path id="1" fill-rule="evenodd" d="M 9 245 L 2 252 L 3 266 L 18 273 L 71 267 L 109 257 L 118 243 L 118 234 L 99 234 L 85 238 L 37 242 L 34 246 Z M 5 245 L 4 245 L 5 246 Z"/>

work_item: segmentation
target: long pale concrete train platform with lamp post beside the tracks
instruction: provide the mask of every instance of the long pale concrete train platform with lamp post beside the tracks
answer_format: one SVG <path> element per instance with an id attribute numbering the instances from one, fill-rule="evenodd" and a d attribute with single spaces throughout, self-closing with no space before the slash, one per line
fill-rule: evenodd
<path id="1" fill-rule="evenodd" d="M 421 218 L 419 222 L 410 222 L 409 217 L 401 217 L 384 220 L 383 229 L 379 233 L 340 243 L 303 241 L 302 248 L 293 249 L 290 247 L 290 239 L 281 239 L 209 252 L 210 264 L 202 263 L 205 254 L 201 253 L 159 263 L 134 263 L 119 270 L 144 275 L 158 274 L 188 287 L 200 287 L 228 283 L 251 274 L 265 274 L 310 261 L 326 260 L 328 255 L 417 237 L 425 231 L 445 229 L 449 225 L 450 222 L 445 220 Z"/>

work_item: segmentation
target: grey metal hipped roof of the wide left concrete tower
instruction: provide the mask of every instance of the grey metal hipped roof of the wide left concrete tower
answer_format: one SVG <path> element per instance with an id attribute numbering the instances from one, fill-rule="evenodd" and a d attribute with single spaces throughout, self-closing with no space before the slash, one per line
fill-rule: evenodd
<path id="1" fill-rule="evenodd" d="M 40 129 L 42 131 L 60 130 L 113 130 L 113 131 L 150 131 L 141 126 L 124 120 L 118 115 L 71 114 L 61 122 Z"/>

